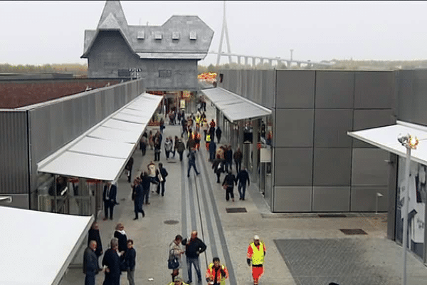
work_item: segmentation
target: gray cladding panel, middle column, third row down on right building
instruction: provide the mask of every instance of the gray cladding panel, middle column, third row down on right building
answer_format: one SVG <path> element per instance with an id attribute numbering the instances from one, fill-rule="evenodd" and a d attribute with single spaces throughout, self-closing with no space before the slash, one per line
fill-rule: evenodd
<path id="1" fill-rule="evenodd" d="M 345 148 L 315 148 L 313 185 L 350 185 L 352 150 Z"/>

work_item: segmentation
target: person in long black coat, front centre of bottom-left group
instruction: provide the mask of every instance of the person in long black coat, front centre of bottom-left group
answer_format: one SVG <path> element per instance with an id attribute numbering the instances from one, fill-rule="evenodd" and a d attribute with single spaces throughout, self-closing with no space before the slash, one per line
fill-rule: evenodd
<path id="1" fill-rule="evenodd" d="M 110 242 L 110 248 L 105 251 L 102 259 L 102 266 L 105 268 L 105 279 L 102 285 L 120 285 L 120 257 L 117 254 L 118 239 L 113 238 Z"/>

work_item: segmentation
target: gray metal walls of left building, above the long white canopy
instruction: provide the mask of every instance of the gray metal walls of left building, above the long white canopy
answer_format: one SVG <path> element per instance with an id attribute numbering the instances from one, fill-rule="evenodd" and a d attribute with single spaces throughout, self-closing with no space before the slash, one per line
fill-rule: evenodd
<path id="1" fill-rule="evenodd" d="M 4 143 L 1 143 L 1 164 L 4 169 L 1 172 L 0 193 L 25 193 L 27 203 L 19 207 L 36 209 L 37 162 L 143 92 L 141 80 L 130 81 L 20 110 L 2 110 L 0 132 Z M 28 205 L 28 193 L 31 194 L 31 205 Z"/>

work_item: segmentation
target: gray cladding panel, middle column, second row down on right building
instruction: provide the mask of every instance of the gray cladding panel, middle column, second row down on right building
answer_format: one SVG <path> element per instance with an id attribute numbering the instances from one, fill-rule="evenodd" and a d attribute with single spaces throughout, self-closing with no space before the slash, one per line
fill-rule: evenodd
<path id="1" fill-rule="evenodd" d="M 352 109 L 316 109 L 315 147 L 350 147 L 352 125 Z"/>

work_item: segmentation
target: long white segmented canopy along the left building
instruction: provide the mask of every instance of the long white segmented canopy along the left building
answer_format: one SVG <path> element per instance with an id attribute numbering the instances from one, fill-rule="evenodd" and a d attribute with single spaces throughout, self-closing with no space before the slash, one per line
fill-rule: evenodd
<path id="1" fill-rule="evenodd" d="M 139 95 L 53 155 L 38 162 L 38 172 L 117 180 L 161 100 L 162 96 L 159 95 Z"/>

